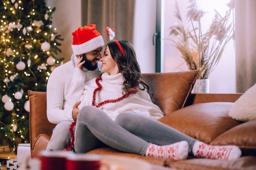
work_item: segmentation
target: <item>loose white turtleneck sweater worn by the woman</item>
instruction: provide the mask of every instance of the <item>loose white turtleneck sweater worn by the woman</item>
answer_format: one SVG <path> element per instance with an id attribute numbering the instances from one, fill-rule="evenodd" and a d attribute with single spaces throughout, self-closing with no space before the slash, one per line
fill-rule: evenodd
<path id="1" fill-rule="evenodd" d="M 74 69 L 72 87 L 70 87 L 70 92 L 67 95 L 67 104 L 65 105 L 64 110 L 72 110 L 74 103 L 79 100 L 81 100 L 79 109 L 85 105 L 92 105 L 93 91 L 98 87 L 95 82 L 96 78 L 84 83 L 84 80 L 80 78 L 82 77 L 81 74 L 83 74 L 83 71 L 81 71 L 79 68 Z M 96 105 L 99 102 L 109 99 L 117 99 L 123 96 L 122 86 L 124 83 L 124 78 L 121 73 L 116 75 L 103 73 L 101 78 L 102 81 L 99 81 L 99 83 L 102 85 L 102 89 L 97 92 L 95 96 Z M 81 88 L 83 86 L 84 88 Z M 142 88 L 142 85 L 140 86 Z M 106 112 L 108 116 L 112 118 L 112 120 L 115 120 L 119 113 L 125 111 L 133 111 L 154 119 L 164 116 L 161 109 L 151 101 L 147 90 L 141 90 L 139 88 L 136 94 L 130 94 L 130 96 L 119 102 L 107 103 L 99 107 L 99 109 Z"/>

